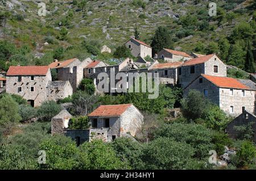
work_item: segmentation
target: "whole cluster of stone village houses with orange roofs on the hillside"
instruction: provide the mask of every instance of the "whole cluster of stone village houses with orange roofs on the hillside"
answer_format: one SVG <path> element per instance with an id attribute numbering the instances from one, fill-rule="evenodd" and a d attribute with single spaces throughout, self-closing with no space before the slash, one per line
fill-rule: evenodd
<path id="1" fill-rule="evenodd" d="M 152 57 L 152 48 L 134 37 L 125 46 L 134 57 L 138 57 L 137 61 L 126 58 L 118 65 L 108 65 L 90 58 L 83 61 L 72 58 L 65 61 L 54 60 L 48 66 L 10 66 L 7 73 L 2 73 L 0 77 L 0 92 L 20 95 L 32 107 L 38 107 L 46 100 L 57 101 L 72 95 L 83 78 L 91 78 L 97 88 L 101 81 L 98 74 L 102 72 L 109 75 L 112 70 L 115 74 L 123 72 L 127 75 L 158 73 L 160 83 L 182 87 L 184 96 L 189 90 L 198 90 L 225 113 L 237 116 L 227 128 L 231 136 L 236 136 L 234 125 L 255 121 L 255 83 L 250 79 L 227 77 L 227 66 L 216 54 L 187 54 L 163 48 Z M 111 50 L 104 46 L 102 51 Z M 164 60 L 165 63 L 159 63 L 159 60 Z M 56 69 L 57 81 L 52 81 L 51 69 Z M 71 117 L 67 110 L 53 117 L 52 134 L 65 133 L 78 144 L 90 140 L 92 134 L 105 141 L 126 136 L 127 133 L 135 136 L 143 124 L 143 115 L 133 104 L 98 107 L 88 115 L 91 127 L 87 130 L 68 129 Z"/>

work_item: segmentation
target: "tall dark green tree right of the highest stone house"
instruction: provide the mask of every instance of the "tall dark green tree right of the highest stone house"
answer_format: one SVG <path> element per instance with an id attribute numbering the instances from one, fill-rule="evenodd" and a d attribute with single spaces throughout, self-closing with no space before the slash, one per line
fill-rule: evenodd
<path id="1" fill-rule="evenodd" d="M 172 35 L 171 32 L 168 30 L 167 27 L 160 26 L 155 31 L 155 35 L 152 38 L 151 42 L 152 53 L 158 53 L 163 48 L 174 48 L 172 42 Z"/>

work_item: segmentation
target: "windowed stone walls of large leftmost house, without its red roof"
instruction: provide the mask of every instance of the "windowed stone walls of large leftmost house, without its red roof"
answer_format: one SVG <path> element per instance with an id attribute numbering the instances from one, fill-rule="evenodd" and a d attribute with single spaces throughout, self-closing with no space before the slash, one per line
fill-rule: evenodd
<path id="1" fill-rule="evenodd" d="M 35 75 L 34 81 L 31 76 L 23 75 L 22 81 L 18 82 L 18 76 L 6 77 L 6 92 L 22 96 L 26 100 L 34 100 L 34 106 L 38 107 L 47 100 L 47 85 L 51 81 L 51 72 L 48 70 L 47 75 Z M 18 87 L 22 87 L 22 91 L 18 92 Z M 31 92 L 34 87 L 34 92 Z"/>

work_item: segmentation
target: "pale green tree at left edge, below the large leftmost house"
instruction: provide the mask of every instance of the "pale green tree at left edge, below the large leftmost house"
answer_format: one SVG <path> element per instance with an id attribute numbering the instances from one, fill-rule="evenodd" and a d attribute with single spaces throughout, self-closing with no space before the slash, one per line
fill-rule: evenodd
<path id="1" fill-rule="evenodd" d="M 1 126 L 9 123 L 17 123 L 22 119 L 19 115 L 18 103 L 16 103 L 10 95 L 4 95 L 0 99 L 0 105 Z"/>

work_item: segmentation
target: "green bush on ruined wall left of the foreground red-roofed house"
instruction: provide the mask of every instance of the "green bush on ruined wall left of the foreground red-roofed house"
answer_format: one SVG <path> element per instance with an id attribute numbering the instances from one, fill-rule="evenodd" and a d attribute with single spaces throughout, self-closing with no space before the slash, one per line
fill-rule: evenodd
<path id="1" fill-rule="evenodd" d="M 90 127 L 90 121 L 87 116 L 72 117 L 69 120 L 69 129 L 88 129 Z"/>

